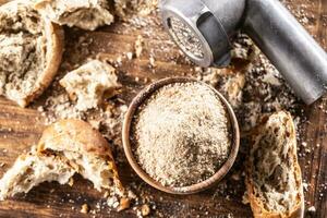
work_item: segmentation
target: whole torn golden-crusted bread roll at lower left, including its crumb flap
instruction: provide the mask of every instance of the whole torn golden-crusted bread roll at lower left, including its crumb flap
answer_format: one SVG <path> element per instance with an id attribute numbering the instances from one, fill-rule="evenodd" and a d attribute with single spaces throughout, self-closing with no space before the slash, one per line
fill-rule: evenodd
<path id="1" fill-rule="evenodd" d="M 98 191 L 123 196 L 124 190 L 107 141 L 90 124 L 62 120 L 48 126 L 28 154 L 21 155 L 0 180 L 0 201 L 27 193 L 43 182 L 72 184 L 74 173 Z"/>

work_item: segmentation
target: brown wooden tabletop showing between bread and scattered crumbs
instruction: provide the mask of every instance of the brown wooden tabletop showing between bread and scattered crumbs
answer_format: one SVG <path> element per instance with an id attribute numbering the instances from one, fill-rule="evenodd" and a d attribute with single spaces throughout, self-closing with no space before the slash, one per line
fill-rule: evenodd
<path id="1" fill-rule="evenodd" d="M 293 9 L 303 9 L 304 13 L 314 14 L 310 19 L 306 28 L 315 35 L 316 39 L 326 49 L 327 46 L 327 0 L 287 0 Z M 301 17 L 300 17 L 301 19 Z M 148 29 L 156 31 L 156 38 L 147 36 Z M 108 59 L 116 60 L 124 52 L 133 50 L 137 35 L 146 38 L 145 53 L 140 59 L 133 59 L 119 65 L 121 82 L 124 85 L 122 98 L 130 102 L 132 97 L 144 86 L 146 80 L 152 81 L 184 75 L 191 72 L 192 66 L 184 60 L 178 60 L 178 64 L 171 60 L 179 59 L 178 49 L 171 44 L 167 34 L 158 24 L 146 28 L 126 28 L 120 23 L 104 27 L 97 32 L 82 32 L 76 29 L 66 31 L 65 59 L 71 62 L 78 47 L 73 47 L 77 38 L 89 39 L 89 55 L 87 57 L 102 53 Z M 160 48 L 169 48 L 160 49 Z M 157 66 L 149 66 L 149 53 L 154 53 Z M 87 57 L 82 57 L 86 59 Z M 80 57 L 81 58 L 81 57 Z M 140 77 L 135 82 L 135 77 Z M 305 191 L 306 207 L 314 206 L 315 213 L 306 213 L 306 217 L 327 217 L 327 97 L 310 107 L 304 107 L 307 122 L 300 126 L 300 152 L 305 148 L 302 142 L 312 147 L 312 152 L 301 156 L 303 179 L 308 184 Z M 0 177 L 10 168 L 15 158 L 23 152 L 37 143 L 44 130 L 44 118 L 37 110 L 22 109 L 15 104 L 0 98 Z M 319 146 L 316 146 L 316 145 Z M 243 180 L 233 178 L 229 173 L 217 186 L 206 192 L 175 196 L 165 194 L 146 185 L 132 171 L 128 164 L 119 166 L 120 174 L 125 184 L 133 183 L 134 189 L 142 193 L 143 198 L 150 205 L 156 205 L 152 216 L 156 217 L 252 217 L 249 205 L 242 204 L 244 193 Z M 226 194 L 228 193 L 228 194 Z M 101 199 L 101 194 L 92 189 L 90 183 L 76 177 L 73 187 L 60 186 L 57 183 L 45 183 L 33 189 L 28 194 L 17 196 L 9 201 L 0 202 L 0 217 L 136 217 L 136 211 L 131 208 L 117 213 L 107 207 L 97 209 L 96 214 L 83 215 L 81 206 L 87 203 L 92 209 Z"/>

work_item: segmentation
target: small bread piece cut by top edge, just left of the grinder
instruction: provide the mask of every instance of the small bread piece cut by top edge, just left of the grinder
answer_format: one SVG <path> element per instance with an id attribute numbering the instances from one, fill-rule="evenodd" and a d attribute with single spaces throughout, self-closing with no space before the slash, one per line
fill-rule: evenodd
<path id="1" fill-rule="evenodd" d="M 137 14 L 146 16 L 158 7 L 158 0 L 114 0 L 116 13 L 122 20 Z"/>

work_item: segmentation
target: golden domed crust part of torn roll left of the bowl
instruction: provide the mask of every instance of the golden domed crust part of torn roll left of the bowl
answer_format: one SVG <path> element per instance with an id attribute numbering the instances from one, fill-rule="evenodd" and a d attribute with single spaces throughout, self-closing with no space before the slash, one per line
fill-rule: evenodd
<path id="1" fill-rule="evenodd" d="M 98 191 L 122 190 L 107 141 L 84 121 L 62 120 L 48 126 L 39 141 L 38 152 L 65 157 Z"/>

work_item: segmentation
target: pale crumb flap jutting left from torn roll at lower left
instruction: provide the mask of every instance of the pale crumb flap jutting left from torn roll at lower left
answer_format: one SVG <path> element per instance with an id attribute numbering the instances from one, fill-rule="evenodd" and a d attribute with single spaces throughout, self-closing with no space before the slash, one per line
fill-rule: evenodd
<path id="1" fill-rule="evenodd" d="M 27 193 L 43 182 L 66 184 L 74 173 L 65 158 L 36 152 L 21 155 L 0 180 L 0 201 Z"/>

